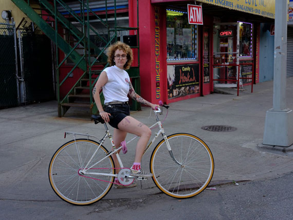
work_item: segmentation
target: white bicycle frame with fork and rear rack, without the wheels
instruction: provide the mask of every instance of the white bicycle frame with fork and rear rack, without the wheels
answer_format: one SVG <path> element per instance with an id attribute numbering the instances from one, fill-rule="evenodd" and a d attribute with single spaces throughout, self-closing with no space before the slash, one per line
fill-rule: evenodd
<path id="1" fill-rule="evenodd" d="M 181 163 L 179 163 L 173 156 L 173 153 L 172 153 L 172 150 L 171 150 L 171 147 L 170 147 L 170 144 L 169 144 L 169 141 L 167 139 L 167 135 L 165 134 L 164 132 L 164 129 L 163 129 L 163 126 L 162 126 L 162 123 L 157 115 L 157 113 L 161 113 L 161 110 L 160 108 L 158 108 L 157 111 L 154 111 L 155 113 L 155 116 L 156 116 L 156 120 L 157 122 L 154 123 L 152 126 L 150 126 L 149 128 L 151 129 L 152 127 L 158 125 L 159 126 L 159 131 L 157 133 L 155 133 L 155 136 L 154 138 L 152 139 L 152 141 L 148 144 L 147 148 L 145 148 L 143 154 L 145 152 L 148 151 L 148 149 L 150 148 L 150 146 L 154 143 L 154 141 L 157 139 L 157 137 L 161 134 L 164 138 L 164 140 L 166 141 L 166 145 L 167 145 L 167 148 L 168 148 L 168 151 L 170 153 L 170 156 L 171 158 L 177 163 L 179 164 L 180 166 L 182 166 Z M 114 144 L 114 141 L 113 141 L 113 138 L 112 138 L 112 135 L 110 134 L 109 130 L 108 130 L 108 127 L 106 125 L 106 123 L 104 123 L 104 126 L 105 126 L 105 130 L 106 130 L 106 134 L 104 135 L 104 137 L 100 140 L 100 144 L 98 146 L 98 148 L 96 149 L 96 151 L 94 152 L 94 154 L 91 156 L 91 158 L 89 159 L 89 161 L 87 162 L 85 168 L 83 169 L 80 169 L 79 170 L 79 173 L 81 175 L 85 175 L 85 174 L 91 174 L 91 175 L 101 175 L 101 176 L 113 176 L 113 177 L 117 177 L 118 174 L 111 174 L 111 173 L 98 173 L 98 172 L 90 172 L 89 170 L 93 167 L 95 167 L 99 162 L 103 161 L 104 159 L 106 159 L 107 157 L 113 155 L 113 154 L 116 154 L 116 157 L 119 161 L 119 165 L 120 165 L 120 168 L 123 169 L 123 163 L 121 161 L 121 158 L 119 156 L 119 154 L 117 153 L 120 149 L 122 149 L 122 146 L 120 146 L 118 149 L 116 149 L 115 147 L 115 144 Z M 79 150 L 78 150 L 78 146 L 77 146 L 77 142 L 76 142 L 76 135 L 80 135 L 80 136 L 86 136 L 87 139 L 89 139 L 89 137 L 93 137 L 93 138 L 96 138 L 97 140 L 99 140 L 99 138 L 97 138 L 96 136 L 93 136 L 93 135 L 89 135 L 89 134 L 81 134 L 81 133 L 74 133 L 74 132 L 65 132 L 65 137 L 66 135 L 73 135 L 74 136 L 74 140 L 75 140 L 75 144 L 76 144 L 76 149 L 77 149 L 77 152 L 79 153 Z M 131 141 L 133 141 L 134 139 L 136 139 L 138 136 L 132 138 L 130 141 L 128 141 L 127 143 L 130 143 Z M 95 157 L 96 153 L 98 152 L 98 150 L 100 149 L 101 145 L 104 143 L 105 139 L 106 138 L 109 138 L 110 142 L 111 142 L 111 145 L 112 145 L 112 148 L 114 149 L 114 151 L 112 152 L 109 152 L 104 158 L 102 158 L 101 160 L 99 160 L 98 162 L 94 163 L 93 165 L 91 165 L 90 167 L 89 164 L 91 163 L 91 161 L 93 160 L 93 158 Z M 79 162 L 80 162 L 80 165 L 82 166 L 82 161 L 81 161 L 81 157 L 79 155 Z M 128 178 L 135 178 L 134 176 L 127 176 Z"/>

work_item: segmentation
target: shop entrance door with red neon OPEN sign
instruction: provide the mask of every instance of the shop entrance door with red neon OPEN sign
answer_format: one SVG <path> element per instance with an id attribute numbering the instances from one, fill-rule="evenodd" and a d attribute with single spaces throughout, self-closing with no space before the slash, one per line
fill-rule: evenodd
<path id="1" fill-rule="evenodd" d="M 215 24 L 213 27 L 213 86 L 237 87 L 238 64 L 239 23 Z"/>

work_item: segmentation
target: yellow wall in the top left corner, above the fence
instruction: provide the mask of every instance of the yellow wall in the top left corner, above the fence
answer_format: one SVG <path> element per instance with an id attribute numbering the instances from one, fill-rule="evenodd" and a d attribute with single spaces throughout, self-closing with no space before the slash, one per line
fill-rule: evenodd
<path id="1" fill-rule="evenodd" d="M 35 4 L 32 4 L 32 7 L 39 8 L 39 6 Z M 11 0 L 0 0 L 0 23 L 6 23 L 1 16 L 3 10 L 11 11 L 16 27 L 20 24 L 23 17 L 27 17 Z"/>

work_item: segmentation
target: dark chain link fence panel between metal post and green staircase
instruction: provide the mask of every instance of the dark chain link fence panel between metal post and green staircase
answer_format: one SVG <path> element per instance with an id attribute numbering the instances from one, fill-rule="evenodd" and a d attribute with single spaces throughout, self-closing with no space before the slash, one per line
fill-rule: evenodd
<path id="1" fill-rule="evenodd" d="M 22 21 L 17 36 L 21 47 L 25 102 L 54 99 L 51 41 L 27 18 Z"/>

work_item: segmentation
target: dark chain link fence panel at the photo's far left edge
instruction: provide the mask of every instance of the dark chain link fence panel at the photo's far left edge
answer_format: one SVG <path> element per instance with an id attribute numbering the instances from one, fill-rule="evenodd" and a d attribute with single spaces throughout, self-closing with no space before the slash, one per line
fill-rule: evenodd
<path id="1" fill-rule="evenodd" d="M 15 25 L 0 23 L 0 108 L 19 104 L 15 38 Z"/>

